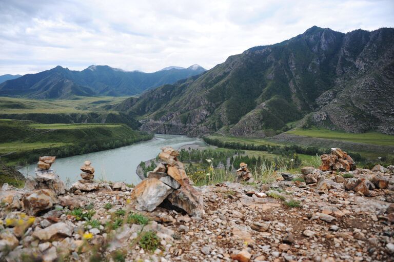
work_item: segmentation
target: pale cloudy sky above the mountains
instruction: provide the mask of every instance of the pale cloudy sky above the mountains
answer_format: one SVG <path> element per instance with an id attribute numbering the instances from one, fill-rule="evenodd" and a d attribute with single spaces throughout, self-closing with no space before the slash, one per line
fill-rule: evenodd
<path id="1" fill-rule="evenodd" d="M 0 75 L 57 65 L 210 69 L 314 25 L 344 33 L 394 27 L 394 1 L 0 0 Z"/>

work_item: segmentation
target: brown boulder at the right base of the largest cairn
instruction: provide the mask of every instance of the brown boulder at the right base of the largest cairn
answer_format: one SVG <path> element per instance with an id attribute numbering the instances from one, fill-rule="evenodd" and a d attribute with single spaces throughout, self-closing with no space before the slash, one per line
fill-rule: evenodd
<path id="1" fill-rule="evenodd" d="M 202 216 L 204 214 L 203 197 L 199 191 L 188 184 L 184 184 L 180 189 L 174 190 L 169 196 L 171 204 L 185 210 L 192 216 Z"/>

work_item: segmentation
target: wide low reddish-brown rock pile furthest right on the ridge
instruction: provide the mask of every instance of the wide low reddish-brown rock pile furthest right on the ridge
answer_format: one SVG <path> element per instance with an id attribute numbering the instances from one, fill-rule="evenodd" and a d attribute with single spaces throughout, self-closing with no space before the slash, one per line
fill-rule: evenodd
<path id="1" fill-rule="evenodd" d="M 356 170 L 354 160 L 340 148 L 331 148 L 331 154 L 321 155 L 322 165 L 319 167 L 322 171 L 353 171 Z"/>

